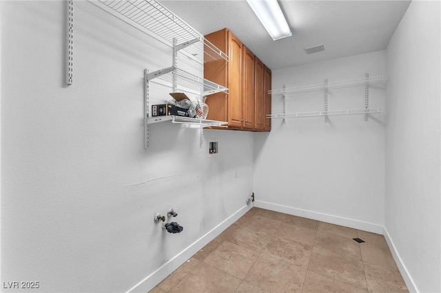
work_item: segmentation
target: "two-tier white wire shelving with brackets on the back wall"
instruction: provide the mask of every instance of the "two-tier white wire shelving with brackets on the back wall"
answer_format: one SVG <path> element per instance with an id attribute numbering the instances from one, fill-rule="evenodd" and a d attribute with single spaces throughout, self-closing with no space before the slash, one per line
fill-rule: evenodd
<path id="1" fill-rule="evenodd" d="M 298 87 L 283 87 L 282 89 L 271 89 L 269 94 L 280 95 L 283 97 L 283 113 L 271 113 L 267 115 L 267 118 L 281 118 L 283 119 L 283 124 L 286 124 L 286 118 L 306 118 L 306 117 L 318 117 L 325 116 L 325 122 L 328 122 L 328 116 L 342 116 L 342 115 L 357 115 L 365 114 L 365 121 L 368 120 L 368 115 L 375 113 L 382 113 L 383 108 L 369 108 L 369 86 L 386 83 L 388 80 L 387 76 L 371 76 L 365 74 L 365 78 L 354 78 L 349 80 L 340 80 L 329 83 L 325 79 L 324 83 L 318 83 L 315 85 L 302 85 Z M 345 87 L 358 87 L 365 86 L 365 108 L 363 109 L 343 109 L 343 110 L 333 110 L 328 111 L 328 91 L 329 89 L 342 89 Z M 289 94 L 300 94 L 309 91 L 324 91 L 325 94 L 325 111 L 310 111 L 310 112 L 297 112 L 297 113 L 287 113 L 287 96 Z"/>

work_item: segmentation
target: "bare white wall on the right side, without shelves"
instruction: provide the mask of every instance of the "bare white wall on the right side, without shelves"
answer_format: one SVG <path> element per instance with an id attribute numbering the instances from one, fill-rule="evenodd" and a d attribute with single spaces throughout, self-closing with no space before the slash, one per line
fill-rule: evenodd
<path id="1" fill-rule="evenodd" d="M 385 227 L 418 292 L 441 292 L 440 9 L 413 1 L 387 47 Z"/>

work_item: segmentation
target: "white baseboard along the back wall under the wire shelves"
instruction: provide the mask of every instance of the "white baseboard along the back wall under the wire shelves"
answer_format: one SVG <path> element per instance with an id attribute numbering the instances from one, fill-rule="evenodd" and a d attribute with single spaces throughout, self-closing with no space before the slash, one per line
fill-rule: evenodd
<path id="1" fill-rule="evenodd" d="M 295 215 L 298 217 L 305 217 L 308 219 L 325 221 L 327 223 L 354 228 L 358 230 L 364 230 L 367 232 L 373 232 L 377 234 L 383 233 L 382 225 L 373 224 L 366 221 L 359 221 L 356 219 L 348 219 L 345 217 L 338 217 L 335 215 L 317 213 L 317 212 L 313 212 L 312 210 L 302 210 L 301 208 L 293 208 L 291 206 L 283 206 L 281 204 L 271 204 L 269 202 L 261 202 L 258 200 L 254 202 L 254 206 L 256 206 L 256 208 L 265 208 L 267 210 L 274 210 L 276 212 L 285 213 L 288 215 Z"/>

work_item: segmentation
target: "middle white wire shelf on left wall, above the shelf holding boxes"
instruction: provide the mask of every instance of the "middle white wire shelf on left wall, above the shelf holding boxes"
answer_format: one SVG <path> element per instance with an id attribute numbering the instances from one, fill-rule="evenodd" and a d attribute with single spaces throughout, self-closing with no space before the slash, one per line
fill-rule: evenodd
<path id="1" fill-rule="evenodd" d="M 210 80 L 195 76 L 194 74 L 173 66 L 147 74 L 147 80 L 152 80 L 153 78 L 159 78 L 168 83 L 173 83 L 173 79 L 176 78 L 176 82 L 179 86 L 195 89 L 201 92 L 202 96 L 216 94 L 221 91 L 226 93 L 228 91 L 227 87 L 223 87 L 222 85 L 218 85 Z"/>

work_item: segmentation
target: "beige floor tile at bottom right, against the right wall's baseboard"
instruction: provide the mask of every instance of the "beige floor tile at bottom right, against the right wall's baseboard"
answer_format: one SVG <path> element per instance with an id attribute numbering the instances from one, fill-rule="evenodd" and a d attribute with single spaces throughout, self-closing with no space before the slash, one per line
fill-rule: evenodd
<path id="1" fill-rule="evenodd" d="M 369 292 L 409 292 L 398 270 L 365 263 Z"/>

